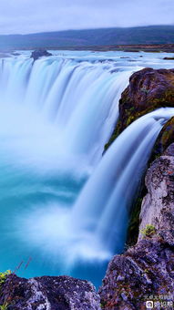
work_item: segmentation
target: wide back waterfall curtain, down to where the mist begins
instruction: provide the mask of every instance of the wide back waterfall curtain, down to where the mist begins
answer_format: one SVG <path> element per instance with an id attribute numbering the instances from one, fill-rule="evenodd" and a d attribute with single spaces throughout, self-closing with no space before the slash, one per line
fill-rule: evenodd
<path id="1" fill-rule="evenodd" d="M 106 66 L 55 57 L 0 62 L 0 114 L 4 122 L 13 124 L 20 137 L 21 128 L 30 137 L 37 132 L 40 140 L 46 132 L 51 131 L 51 136 L 54 132 L 54 143 L 59 146 L 54 152 L 84 157 L 89 165 L 95 165 L 115 126 L 118 99 L 131 71 L 113 72 L 112 63 Z M 14 130 L 12 126 L 7 127 L 7 135 L 10 130 Z M 0 134 L 2 131 L 5 127 Z"/>

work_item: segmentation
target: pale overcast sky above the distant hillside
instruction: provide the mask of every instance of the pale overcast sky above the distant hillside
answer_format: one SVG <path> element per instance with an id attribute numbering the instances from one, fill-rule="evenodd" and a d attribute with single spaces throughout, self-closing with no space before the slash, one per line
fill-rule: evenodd
<path id="1" fill-rule="evenodd" d="M 0 34 L 174 24 L 174 0 L 0 0 Z"/>

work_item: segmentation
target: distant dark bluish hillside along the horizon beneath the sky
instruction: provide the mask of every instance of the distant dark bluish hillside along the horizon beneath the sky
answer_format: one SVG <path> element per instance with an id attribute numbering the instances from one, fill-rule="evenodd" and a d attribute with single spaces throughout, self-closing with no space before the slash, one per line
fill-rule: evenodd
<path id="1" fill-rule="evenodd" d="M 174 44 L 174 26 L 139 26 L 67 30 L 30 35 L 0 36 L 0 48 L 100 47 Z"/>

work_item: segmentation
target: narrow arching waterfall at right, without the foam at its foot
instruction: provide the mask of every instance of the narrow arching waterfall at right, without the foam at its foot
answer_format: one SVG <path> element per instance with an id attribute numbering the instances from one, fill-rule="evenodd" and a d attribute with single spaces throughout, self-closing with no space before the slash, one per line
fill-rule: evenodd
<path id="1" fill-rule="evenodd" d="M 159 131 L 173 115 L 174 109 L 158 109 L 125 129 L 107 150 L 74 206 L 76 229 L 90 232 L 110 253 L 123 249 L 138 183 Z"/>

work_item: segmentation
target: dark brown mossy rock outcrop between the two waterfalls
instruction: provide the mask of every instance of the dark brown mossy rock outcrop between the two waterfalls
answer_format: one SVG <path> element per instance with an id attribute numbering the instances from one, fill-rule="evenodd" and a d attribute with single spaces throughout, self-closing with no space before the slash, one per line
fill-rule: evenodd
<path id="1" fill-rule="evenodd" d="M 129 78 L 119 101 L 119 119 L 108 146 L 134 120 L 161 107 L 174 107 L 174 69 L 147 67 Z"/>

